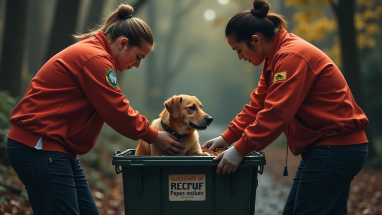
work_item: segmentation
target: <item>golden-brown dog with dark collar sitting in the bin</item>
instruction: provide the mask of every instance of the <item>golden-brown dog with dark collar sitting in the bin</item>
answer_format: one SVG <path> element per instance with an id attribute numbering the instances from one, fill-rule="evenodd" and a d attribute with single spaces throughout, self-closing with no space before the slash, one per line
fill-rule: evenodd
<path id="1" fill-rule="evenodd" d="M 175 132 L 178 142 L 185 148 L 176 156 L 197 155 L 210 156 L 207 152 L 201 152 L 199 145 L 199 134 L 196 130 L 205 130 L 211 123 L 212 117 L 205 113 L 202 105 L 194 96 L 179 95 L 173 96 L 165 102 L 165 109 L 159 114 L 160 118 L 154 119 L 151 127 L 158 131 Z M 148 144 L 141 140 L 138 144 L 135 155 L 169 155 L 165 151 L 159 150 L 154 144 Z"/>

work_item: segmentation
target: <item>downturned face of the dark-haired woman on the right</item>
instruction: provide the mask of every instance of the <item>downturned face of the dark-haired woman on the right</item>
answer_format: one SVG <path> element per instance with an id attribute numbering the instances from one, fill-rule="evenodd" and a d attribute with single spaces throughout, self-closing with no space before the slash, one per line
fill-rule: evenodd
<path id="1" fill-rule="evenodd" d="M 261 63 L 263 63 L 265 55 L 259 36 L 252 36 L 251 48 L 248 47 L 245 42 L 236 42 L 231 36 L 227 37 L 227 42 L 231 48 L 237 52 L 239 60 L 244 59 L 254 66 L 259 66 Z"/>

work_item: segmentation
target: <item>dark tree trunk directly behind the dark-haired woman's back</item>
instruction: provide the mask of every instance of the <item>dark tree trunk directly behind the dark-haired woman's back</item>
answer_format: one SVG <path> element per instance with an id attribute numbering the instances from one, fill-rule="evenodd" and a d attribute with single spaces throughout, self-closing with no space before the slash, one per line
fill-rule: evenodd
<path id="1" fill-rule="evenodd" d="M 332 6 L 338 19 L 343 73 L 353 94 L 354 100 L 357 105 L 367 113 L 363 79 L 356 43 L 356 30 L 354 27 L 355 2 L 354 0 L 339 0 L 337 4 L 332 2 Z M 374 136 L 370 128 L 366 128 L 365 132 L 369 140 L 368 159 L 373 159 L 377 156 L 373 145 Z"/>

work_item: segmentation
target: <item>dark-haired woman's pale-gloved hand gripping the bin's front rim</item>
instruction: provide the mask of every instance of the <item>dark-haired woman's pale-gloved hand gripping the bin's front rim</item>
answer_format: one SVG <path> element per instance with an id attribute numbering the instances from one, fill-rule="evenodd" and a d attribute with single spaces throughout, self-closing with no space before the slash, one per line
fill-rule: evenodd
<path id="1" fill-rule="evenodd" d="M 229 174 L 231 172 L 235 172 L 237 166 L 239 166 L 243 158 L 244 155 L 242 155 L 235 146 L 223 151 L 213 159 L 214 161 L 221 159 L 219 165 L 217 166 L 216 174 L 220 174 L 220 171 L 222 175 L 225 173 Z"/>

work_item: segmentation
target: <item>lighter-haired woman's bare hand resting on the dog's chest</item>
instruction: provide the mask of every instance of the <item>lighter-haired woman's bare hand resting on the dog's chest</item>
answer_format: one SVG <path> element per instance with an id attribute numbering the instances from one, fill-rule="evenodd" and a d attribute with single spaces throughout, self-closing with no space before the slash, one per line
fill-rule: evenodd
<path id="1" fill-rule="evenodd" d="M 167 131 L 158 131 L 158 136 L 153 144 L 160 150 L 175 155 L 185 148 L 184 145 L 177 142 L 178 138 Z"/>

